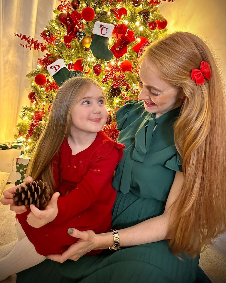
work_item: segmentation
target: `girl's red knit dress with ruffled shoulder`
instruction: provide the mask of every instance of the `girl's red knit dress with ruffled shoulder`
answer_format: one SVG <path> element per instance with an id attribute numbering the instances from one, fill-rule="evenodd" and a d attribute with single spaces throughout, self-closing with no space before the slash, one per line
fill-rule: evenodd
<path id="1" fill-rule="evenodd" d="M 68 139 L 63 141 L 52 163 L 60 192 L 57 217 L 43 227 L 34 228 L 26 222 L 30 209 L 16 215 L 39 254 L 61 254 L 75 243 L 77 239 L 68 234 L 68 228 L 95 233 L 111 229 L 116 197 L 112 178 L 123 148 L 124 145 L 110 140 L 102 131 L 87 149 L 76 155 L 72 155 Z M 94 250 L 89 254 L 99 252 Z"/>

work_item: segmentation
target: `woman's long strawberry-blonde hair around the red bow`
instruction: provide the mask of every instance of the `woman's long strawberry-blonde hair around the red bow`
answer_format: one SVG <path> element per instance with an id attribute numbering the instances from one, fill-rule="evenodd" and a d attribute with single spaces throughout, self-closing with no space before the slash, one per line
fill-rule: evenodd
<path id="1" fill-rule="evenodd" d="M 163 81 L 186 96 L 174 125 L 184 182 L 172 205 L 168 237 L 174 254 L 193 257 L 226 230 L 224 86 L 209 47 L 194 34 L 169 34 L 146 48 L 144 58 L 156 65 Z M 202 61 L 209 63 L 211 78 L 197 86 L 191 71 L 200 69 Z"/>

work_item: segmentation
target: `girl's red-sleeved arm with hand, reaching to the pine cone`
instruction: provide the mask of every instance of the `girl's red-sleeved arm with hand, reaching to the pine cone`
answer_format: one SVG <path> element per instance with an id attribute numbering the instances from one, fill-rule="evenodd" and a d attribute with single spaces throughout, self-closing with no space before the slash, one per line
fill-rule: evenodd
<path id="1" fill-rule="evenodd" d="M 27 218 L 28 224 L 35 228 L 42 227 L 49 222 L 59 225 L 72 216 L 85 211 L 95 202 L 101 191 L 104 193 L 105 189 L 113 190 L 109 185 L 112 182 L 118 160 L 119 150 L 113 148 L 108 155 L 99 158 L 90 167 L 82 181 L 67 195 L 59 197 L 58 192 L 53 194 L 45 210 L 39 210 L 31 205 L 31 212 Z"/>

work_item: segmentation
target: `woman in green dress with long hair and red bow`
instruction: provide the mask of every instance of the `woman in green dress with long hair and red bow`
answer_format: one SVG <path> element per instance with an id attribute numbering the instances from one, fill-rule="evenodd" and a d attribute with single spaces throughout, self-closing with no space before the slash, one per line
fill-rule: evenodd
<path id="1" fill-rule="evenodd" d="M 39 271 L 40 282 L 210 282 L 198 268 L 199 253 L 226 230 L 226 110 L 219 71 L 199 37 L 178 32 L 146 48 L 139 86 L 141 101 L 117 112 L 119 142 L 126 145 L 113 181 L 118 193 L 112 227 L 119 230 L 69 229 L 80 240 L 49 257 L 77 261 L 61 264 L 59 273 L 46 260 L 21 272 L 18 282 Z M 122 249 L 81 257 L 108 247 Z"/>

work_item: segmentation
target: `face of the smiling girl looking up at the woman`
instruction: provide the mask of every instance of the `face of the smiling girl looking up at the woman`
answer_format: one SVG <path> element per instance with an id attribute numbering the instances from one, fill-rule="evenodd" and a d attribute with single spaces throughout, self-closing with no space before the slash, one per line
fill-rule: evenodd
<path id="1" fill-rule="evenodd" d="M 71 133 L 97 133 L 107 121 L 105 98 L 93 83 L 72 108 Z"/>

